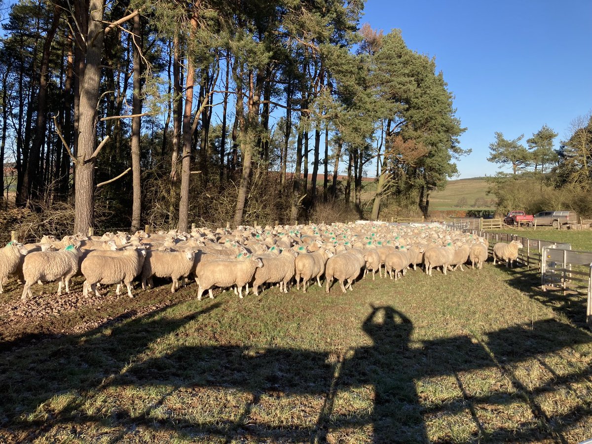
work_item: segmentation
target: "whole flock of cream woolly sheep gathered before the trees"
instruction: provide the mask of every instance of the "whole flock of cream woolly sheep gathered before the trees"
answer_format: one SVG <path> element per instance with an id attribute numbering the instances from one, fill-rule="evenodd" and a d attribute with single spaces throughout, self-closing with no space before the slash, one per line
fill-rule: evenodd
<path id="1" fill-rule="evenodd" d="M 522 244 L 497 243 L 493 248 L 496 260 L 511 266 Z M 132 282 L 139 278 L 141 287 L 153 287 L 152 278 L 172 279 L 171 291 L 185 286 L 192 277 L 198 285 L 197 298 L 213 288 L 234 288 L 243 297 L 249 285 L 259 295 L 265 285 L 279 284 L 288 292 L 295 279 L 297 289 L 306 292 L 310 281 L 329 292 L 333 280 L 339 281 L 342 292 L 352 289 L 360 275 L 387 272 L 391 279 L 406 274 L 410 267 L 424 266 L 427 275 L 434 268 L 443 274 L 456 270 L 468 261 L 472 268 L 482 268 L 488 257 L 488 243 L 482 237 L 447 231 L 437 224 L 399 226 L 385 224 L 318 224 L 309 226 L 277 226 L 255 229 L 194 229 L 130 236 L 127 233 L 105 233 L 86 237 L 80 234 L 58 240 L 44 236 L 38 243 L 10 242 L 0 249 L 0 292 L 9 276 L 20 279 L 24 288 L 22 300 L 32 297 L 31 286 L 59 281 L 70 291 L 70 279 L 84 276 L 83 291 L 89 288 L 99 295 L 98 286 L 117 284 L 131 293 Z"/>

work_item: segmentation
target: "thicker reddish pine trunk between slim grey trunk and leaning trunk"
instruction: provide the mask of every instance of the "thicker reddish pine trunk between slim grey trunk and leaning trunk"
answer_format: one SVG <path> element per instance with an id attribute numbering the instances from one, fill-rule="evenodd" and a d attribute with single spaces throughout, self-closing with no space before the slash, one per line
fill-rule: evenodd
<path id="1" fill-rule="evenodd" d="M 192 35 L 197 30 L 198 20 L 191 17 Z M 181 160 L 181 198 L 179 199 L 179 223 L 177 229 L 186 232 L 189 224 L 189 179 L 191 178 L 191 141 L 193 137 L 191 107 L 193 106 L 193 89 L 195 83 L 195 66 L 191 53 L 187 56 L 187 76 L 185 81 L 185 111 L 183 114 L 183 156 Z"/>

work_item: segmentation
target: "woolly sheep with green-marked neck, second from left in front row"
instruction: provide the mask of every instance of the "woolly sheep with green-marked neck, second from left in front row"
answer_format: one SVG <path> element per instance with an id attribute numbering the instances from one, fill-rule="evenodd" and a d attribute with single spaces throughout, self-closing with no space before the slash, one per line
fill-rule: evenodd
<path id="1" fill-rule="evenodd" d="M 66 293 L 70 292 L 69 282 L 78 272 L 78 258 L 81 254 L 79 244 L 72 244 L 63 250 L 50 252 L 39 251 L 29 253 L 22 264 L 22 275 L 25 281 L 21 300 L 26 301 L 27 295 L 33 297 L 31 285 L 35 282 L 53 282 L 60 279 L 57 294 L 62 294 L 62 285 L 66 284 Z"/>

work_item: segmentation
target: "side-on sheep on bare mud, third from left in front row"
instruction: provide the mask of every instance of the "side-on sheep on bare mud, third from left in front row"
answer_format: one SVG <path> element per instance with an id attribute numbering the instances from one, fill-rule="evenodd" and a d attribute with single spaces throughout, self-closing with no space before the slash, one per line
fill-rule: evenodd
<path id="1" fill-rule="evenodd" d="M 131 294 L 131 281 L 136 278 L 141 270 L 140 263 L 143 263 L 146 250 L 128 248 L 123 251 L 114 252 L 112 255 L 91 255 L 82 262 L 82 274 L 85 277 L 83 285 L 84 295 L 88 295 L 88 287 L 95 295 L 100 296 L 96 284 L 110 285 L 118 284 L 115 294 L 119 295 L 119 284 L 123 282 L 127 287 L 127 295 Z"/>

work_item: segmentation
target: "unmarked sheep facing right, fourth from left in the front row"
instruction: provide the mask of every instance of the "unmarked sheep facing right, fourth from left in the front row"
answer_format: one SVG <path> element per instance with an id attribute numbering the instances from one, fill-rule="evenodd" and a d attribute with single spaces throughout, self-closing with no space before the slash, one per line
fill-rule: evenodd
<path id="1" fill-rule="evenodd" d="M 185 287 L 185 278 L 194 268 L 195 253 L 193 250 L 180 252 L 150 251 L 146 254 L 142 268 L 142 289 L 146 289 L 146 281 L 152 276 L 159 278 L 172 278 L 173 284 L 170 292 L 174 293 L 179 288 L 179 278 L 182 278 Z M 153 287 L 153 285 L 150 285 Z"/>

